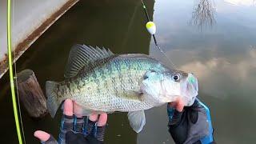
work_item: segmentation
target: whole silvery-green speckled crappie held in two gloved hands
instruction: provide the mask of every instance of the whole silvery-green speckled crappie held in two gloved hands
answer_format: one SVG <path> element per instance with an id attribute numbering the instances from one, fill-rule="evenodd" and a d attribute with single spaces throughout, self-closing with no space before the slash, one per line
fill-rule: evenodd
<path id="1" fill-rule="evenodd" d="M 82 106 L 82 115 L 129 112 L 137 133 L 146 123 L 144 110 L 181 97 L 191 106 L 198 95 L 193 74 L 170 70 L 146 54 L 113 54 L 110 50 L 75 45 L 70 50 L 63 82 L 46 82 L 47 108 L 54 117 L 66 98 Z"/>

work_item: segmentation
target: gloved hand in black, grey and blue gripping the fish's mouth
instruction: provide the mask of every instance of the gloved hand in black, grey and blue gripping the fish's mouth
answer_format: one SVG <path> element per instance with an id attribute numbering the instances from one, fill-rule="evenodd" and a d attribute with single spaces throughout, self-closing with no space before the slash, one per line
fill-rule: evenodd
<path id="1" fill-rule="evenodd" d="M 169 117 L 169 132 L 175 143 L 206 144 L 213 143 L 213 128 L 210 120 L 210 111 L 198 99 L 192 106 L 183 110 L 175 110 L 177 104 L 167 106 Z"/>

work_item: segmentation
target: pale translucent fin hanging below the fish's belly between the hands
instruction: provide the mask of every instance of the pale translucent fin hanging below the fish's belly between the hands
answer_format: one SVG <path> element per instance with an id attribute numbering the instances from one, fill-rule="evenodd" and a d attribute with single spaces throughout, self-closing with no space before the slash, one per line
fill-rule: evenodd
<path id="1" fill-rule="evenodd" d="M 144 110 L 129 112 L 127 116 L 133 130 L 136 131 L 136 133 L 142 131 L 142 128 L 146 123 Z"/>

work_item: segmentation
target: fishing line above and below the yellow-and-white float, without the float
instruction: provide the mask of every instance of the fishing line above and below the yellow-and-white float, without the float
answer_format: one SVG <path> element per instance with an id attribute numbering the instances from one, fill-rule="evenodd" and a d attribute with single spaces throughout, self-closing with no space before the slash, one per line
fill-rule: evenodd
<path id="1" fill-rule="evenodd" d="M 147 10 L 146 10 L 146 6 L 145 6 L 145 3 L 143 2 L 143 0 L 142 0 L 142 7 L 143 7 L 143 9 L 144 9 L 144 11 L 145 11 L 147 22 L 148 22 L 148 23 L 151 22 L 151 21 L 150 21 L 150 16 L 149 16 L 149 14 L 148 14 L 148 12 L 147 12 Z M 153 24 L 154 24 L 154 23 L 153 23 Z M 149 31 L 149 32 L 150 32 L 150 31 Z M 151 34 L 151 33 L 150 33 L 150 34 Z M 170 58 L 167 57 L 166 53 L 164 53 L 164 51 L 163 51 L 163 50 L 161 49 L 161 47 L 158 45 L 157 38 L 155 38 L 154 33 L 152 33 L 152 36 L 153 36 L 153 38 L 154 38 L 154 44 L 155 44 L 155 46 L 157 46 L 157 47 L 158 47 L 158 50 L 160 50 L 160 52 L 167 58 L 167 60 L 170 62 L 170 64 L 174 67 L 174 70 L 177 70 L 177 66 L 174 64 L 174 62 L 172 62 L 172 61 L 170 60 Z"/>

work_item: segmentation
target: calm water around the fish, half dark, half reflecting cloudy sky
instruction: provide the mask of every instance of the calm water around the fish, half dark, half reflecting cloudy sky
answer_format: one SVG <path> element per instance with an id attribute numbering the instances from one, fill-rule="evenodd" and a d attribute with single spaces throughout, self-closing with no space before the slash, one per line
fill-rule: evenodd
<path id="1" fill-rule="evenodd" d="M 179 69 L 197 75 L 199 95 L 210 106 L 218 143 L 255 142 L 254 3 L 253 0 L 146 1 L 151 16 L 154 6 L 162 49 Z M 145 20 L 137 0 L 78 2 L 18 60 L 18 70 L 34 70 L 43 89 L 46 80 L 61 81 L 74 43 L 106 46 L 117 54 L 150 53 L 166 62 L 150 42 Z M 0 142 L 17 143 L 7 75 L 0 86 Z M 27 143 L 37 142 L 32 134 L 38 128 L 58 134 L 60 114 L 58 118 L 48 116 L 34 121 L 22 111 Z M 166 123 L 165 106 L 146 110 L 146 127 L 138 135 L 130 129 L 126 114 L 110 114 L 106 143 L 170 143 Z"/>

